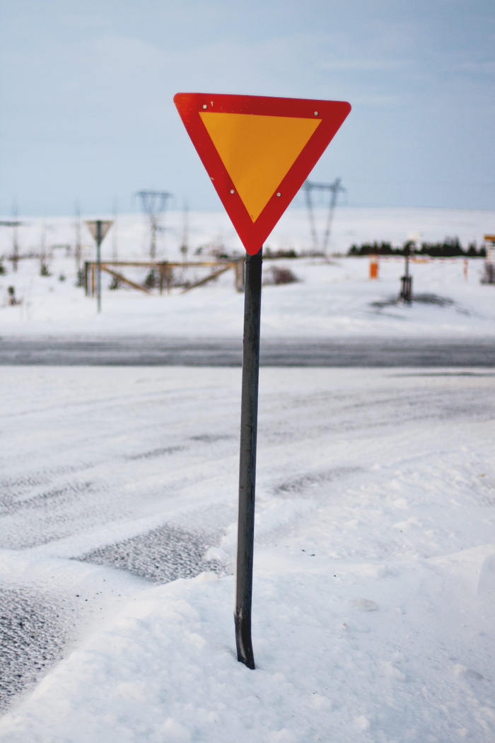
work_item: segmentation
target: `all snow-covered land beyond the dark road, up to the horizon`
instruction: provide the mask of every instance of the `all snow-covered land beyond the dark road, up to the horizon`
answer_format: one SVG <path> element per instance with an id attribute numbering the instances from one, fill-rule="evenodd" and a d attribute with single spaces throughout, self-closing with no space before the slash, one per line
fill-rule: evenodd
<path id="1" fill-rule="evenodd" d="M 324 212 L 320 213 L 320 227 Z M 181 259 L 179 245 L 183 215 L 166 215 L 170 230 L 160 233 L 158 257 Z M 27 219 L 29 222 L 29 219 Z M 221 212 L 191 213 L 189 259 L 211 258 L 212 246 L 225 244 L 228 250 L 240 245 L 232 227 Z M 342 208 L 335 213 L 333 248 L 346 253 L 351 242 L 390 240 L 402 244 L 411 229 L 421 233 L 422 240 L 439 241 L 445 236 L 459 236 L 467 247 L 476 241 L 480 247 L 483 235 L 494 232 L 495 212 L 461 210 L 353 210 Z M 51 276 L 39 276 L 39 261 L 24 259 L 14 273 L 7 258 L 8 273 L 0 276 L 0 334 L 2 336 L 90 336 L 95 335 L 162 335 L 169 337 L 240 337 L 242 332 L 243 296 L 235 291 L 234 271 L 229 270 L 217 282 L 181 293 L 145 296 L 134 289 L 109 290 L 111 276 L 103 273 L 102 314 L 96 314 L 96 300 L 76 288 L 76 264 L 73 257 L 73 220 L 46 221 L 46 244 L 59 245 L 52 250 Z M 174 227 L 173 227 L 174 225 Z M 220 226 L 222 226 L 220 229 Z M 48 227 L 51 226 L 51 230 Z M 195 227 L 194 227 L 195 226 Z M 21 253 L 39 252 L 39 234 L 43 225 L 38 220 L 19 228 Z M 113 228 L 112 228 L 113 229 Z M 0 233 L 0 254 L 11 252 L 11 230 Z M 95 258 L 95 247 L 84 227 L 84 258 Z M 112 231 L 102 244 L 103 259 L 145 260 L 147 230 L 139 215 L 119 218 L 117 245 Z M 70 247 L 69 253 L 63 247 Z M 307 215 L 292 210 L 273 233 L 272 249 L 279 247 L 303 251 L 309 247 Z M 195 255 L 203 245 L 203 253 Z M 329 337 L 329 336 L 446 336 L 479 337 L 495 332 L 495 297 L 493 285 L 482 285 L 481 259 L 445 259 L 411 264 L 413 292 L 424 301 L 412 307 L 390 305 L 399 293 L 404 259 L 381 259 L 377 281 L 370 281 L 367 258 L 334 257 L 323 259 L 282 260 L 300 279 L 283 286 L 266 286 L 263 290 L 263 337 Z M 271 261 L 264 270 L 269 276 Z M 122 268 L 125 276 L 136 282 L 145 279 L 147 270 Z M 176 273 L 181 273 L 177 269 Z M 196 276 L 197 274 L 197 276 Z M 187 278 L 205 275 L 189 270 Z M 61 281 L 61 277 L 65 280 Z M 21 305 L 6 305 L 7 289 L 13 286 Z M 433 303 L 431 301 L 433 296 Z M 437 303 L 435 303 L 435 298 Z M 445 300 L 445 301 L 444 301 Z"/>

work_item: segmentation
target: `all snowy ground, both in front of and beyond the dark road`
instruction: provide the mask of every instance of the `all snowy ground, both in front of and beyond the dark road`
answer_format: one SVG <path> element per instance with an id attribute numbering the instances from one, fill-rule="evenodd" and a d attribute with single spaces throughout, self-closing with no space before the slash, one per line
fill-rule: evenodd
<path id="1" fill-rule="evenodd" d="M 160 258 L 179 256 L 181 220 Z M 309 248 L 306 213 L 284 220 L 270 247 Z M 103 258 L 145 259 L 141 219 L 117 227 Z M 242 336 L 232 271 L 163 296 L 105 276 L 96 314 L 73 230 L 19 228 L 21 253 L 62 246 L 39 276 L 34 258 L 13 273 L 3 228 L 0 343 Z M 220 214 L 189 230 L 191 259 L 238 247 Z M 412 231 L 479 246 L 494 212 L 342 209 L 332 250 Z M 266 261 L 266 276 L 275 263 L 299 281 L 263 288 L 262 337 L 495 334 L 479 259 L 412 262 L 411 306 L 403 259 L 377 281 L 366 258 Z M 0 743 L 493 743 L 494 380 L 260 370 L 250 671 L 233 621 L 240 369 L 0 366 Z"/>

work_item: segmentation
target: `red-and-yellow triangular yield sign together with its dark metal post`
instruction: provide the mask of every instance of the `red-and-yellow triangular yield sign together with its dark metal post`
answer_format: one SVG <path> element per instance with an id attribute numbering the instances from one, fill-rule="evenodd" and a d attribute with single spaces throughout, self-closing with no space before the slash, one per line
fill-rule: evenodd
<path id="1" fill-rule="evenodd" d="M 254 669 L 251 609 L 263 241 L 344 122 L 350 105 L 204 93 L 177 93 L 174 103 L 248 253 L 234 620 L 237 660 Z"/>

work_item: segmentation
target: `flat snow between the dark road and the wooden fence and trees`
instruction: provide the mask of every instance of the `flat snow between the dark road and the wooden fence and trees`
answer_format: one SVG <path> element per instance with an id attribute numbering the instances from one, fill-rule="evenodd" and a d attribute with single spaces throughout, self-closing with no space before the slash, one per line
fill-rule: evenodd
<path id="1" fill-rule="evenodd" d="M 59 259 L 67 275 L 64 263 Z M 263 338 L 495 334 L 495 288 L 480 283 L 480 259 L 468 262 L 467 279 L 462 259 L 411 263 L 413 292 L 423 300 L 411 306 L 396 303 L 404 273 L 401 258 L 381 259 L 378 281 L 369 279 L 367 258 L 330 264 L 322 259 L 266 261 L 265 273 L 275 264 L 290 268 L 300 281 L 263 288 Z M 104 274 L 100 315 L 96 299 L 86 297 L 73 280 L 60 282 L 58 272 L 40 277 L 35 271 L 26 262 L 15 276 L 0 276 L 0 295 L 6 296 L 7 287 L 15 284 L 16 296 L 24 300 L 0 307 L 1 336 L 242 336 L 244 300 L 235 291 L 233 270 L 212 285 L 185 294 L 175 288 L 163 296 L 109 291 L 110 277 Z"/>

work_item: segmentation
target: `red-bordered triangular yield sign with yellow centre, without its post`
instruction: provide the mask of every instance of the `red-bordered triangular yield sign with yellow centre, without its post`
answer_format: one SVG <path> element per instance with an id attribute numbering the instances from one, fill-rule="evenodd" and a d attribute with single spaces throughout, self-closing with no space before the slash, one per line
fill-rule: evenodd
<path id="1" fill-rule="evenodd" d="M 350 112 L 344 101 L 177 93 L 184 126 L 255 255 Z"/>

